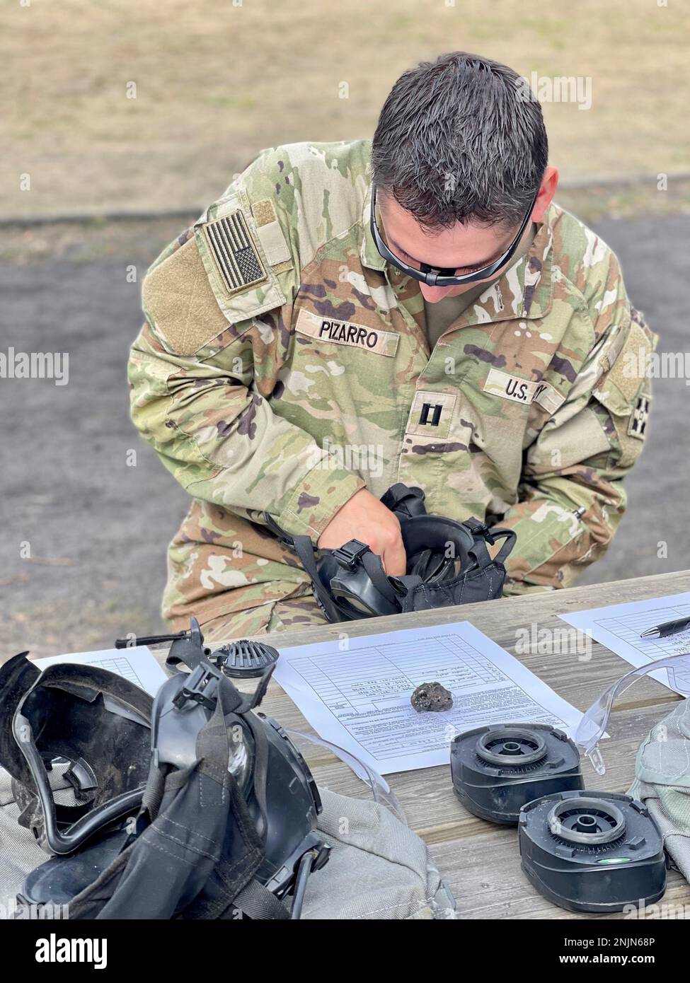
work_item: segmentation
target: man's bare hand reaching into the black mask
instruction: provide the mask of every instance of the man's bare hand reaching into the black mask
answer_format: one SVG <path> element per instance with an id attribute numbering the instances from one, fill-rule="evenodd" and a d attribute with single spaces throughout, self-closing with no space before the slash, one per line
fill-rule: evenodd
<path id="1" fill-rule="evenodd" d="M 338 549 L 349 540 L 366 543 L 377 553 L 389 576 L 401 577 L 407 569 L 398 517 L 366 489 L 345 502 L 319 537 L 322 549 Z"/>

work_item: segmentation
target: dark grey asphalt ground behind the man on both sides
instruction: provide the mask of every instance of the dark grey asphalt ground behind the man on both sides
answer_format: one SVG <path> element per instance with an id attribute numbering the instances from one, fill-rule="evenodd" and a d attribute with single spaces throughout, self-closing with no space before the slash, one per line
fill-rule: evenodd
<path id="1" fill-rule="evenodd" d="M 690 216 L 594 227 L 618 254 L 633 304 L 659 332 L 659 351 L 684 352 Z M 23 649 L 108 647 L 118 635 L 161 627 L 165 548 L 187 495 L 128 417 L 125 364 L 141 320 L 130 262 L 0 264 L 0 352 L 69 354 L 66 385 L 0 378 L 0 660 Z M 141 280 L 147 261 L 136 264 Z M 654 392 L 648 446 L 627 483 L 628 513 L 581 583 L 690 566 L 690 390 L 685 378 L 661 378 Z"/>

